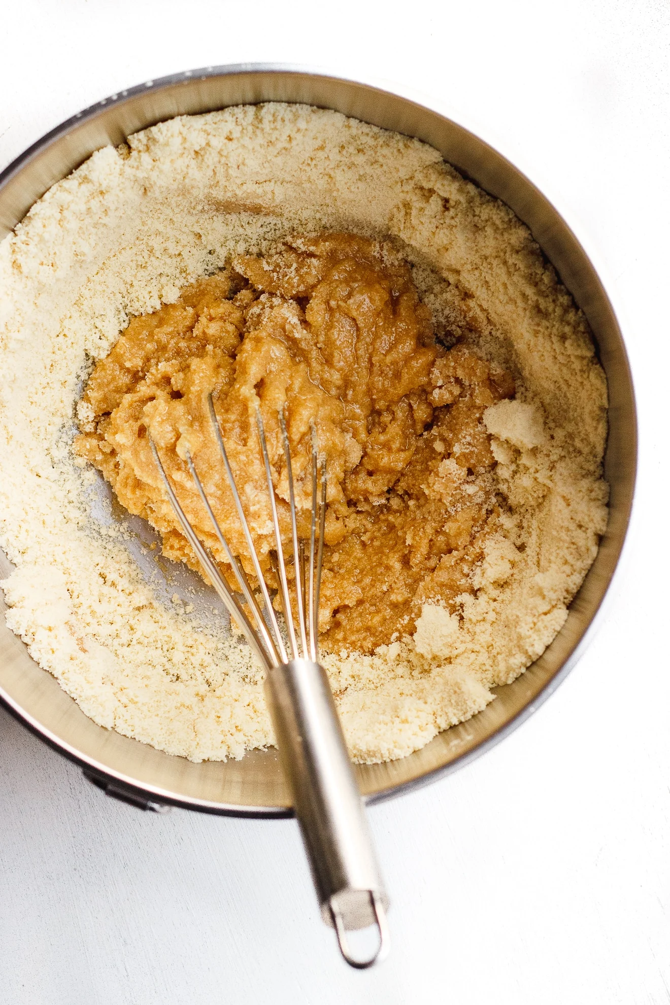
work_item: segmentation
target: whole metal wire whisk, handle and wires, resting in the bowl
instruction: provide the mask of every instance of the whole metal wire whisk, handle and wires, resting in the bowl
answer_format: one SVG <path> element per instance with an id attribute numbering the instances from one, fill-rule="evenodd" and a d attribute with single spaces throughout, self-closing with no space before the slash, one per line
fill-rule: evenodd
<path id="1" fill-rule="evenodd" d="M 281 540 L 279 515 L 272 481 L 272 467 L 265 428 L 256 407 L 256 426 L 270 504 L 274 550 L 269 558 L 278 585 L 285 637 L 272 604 L 242 507 L 235 476 L 226 452 L 223 433 L 208 397 L 209 416 L 221 454 L 228 485 L 258 581 L 260 599 L 252 588 L 239 555 L 234 555 L 212 510 L 190 451 L 185 459 L 191 478 L 202 499 L 223 553 L 230 565 L 243 600 L 231 590 L 217 562 L 200 541 L 189 522 L 161 461 L 151 431 L 149 442 L 177 520 L 209 577 L 214 589 L 236 620 L 266 670 L 266 695 L 277 738 L 282 766 L 288 779 L 293 807 L 300 824 L 312 877 L 326 924 L 334 927 L 345 960 L 357 969 L 366 969 L 382 960 L 389 948 L 386 921 L 388 897 L 377 864 L 363 809 L 363 801 L 347 753 L 340 721 L 327 677 L 318 663 L 318 606 L 323 562 L 323 538 L 327 496 L 325 456 L 319 457 L 316 424 L 311 434 L 311 519 L 308 554 L 304 539 L 298 538 L 295 485 L 290 443 L 286 428 L 286 406 L 278 410 L 288 481 L 290 540 L 293 560 L 294 596 Z M 246 605 L 246 607 L 245 607 Z M 349 948 L 347 931 L 375 924 L 379 941 L 371 957 L 355 958 Z"/>

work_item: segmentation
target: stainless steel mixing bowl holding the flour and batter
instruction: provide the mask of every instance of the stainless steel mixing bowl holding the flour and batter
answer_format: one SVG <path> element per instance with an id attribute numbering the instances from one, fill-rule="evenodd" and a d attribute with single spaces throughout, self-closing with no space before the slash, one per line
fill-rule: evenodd
<path id="1" fill-rule="evenodd" d="M 593 329 L 610 391 L 605 474 L 610 520 L 596 561 L 573 601 L 565 627 L 522 676 L 496 688 L 497 699 L 474 719 L 390 764 L 357 768 L 368 802 L 423 785 L 483 753 L 515 729 L 559 685 L 593 633 L 628 528 L 635 484 L 635 398 L 624 341 L 594 266 L 565 220 L 508 161 L 472 133 L 405 97 L 322 73 L 281 66 L 219 66 L 148 81 L 80 112 L 34 144 L 0 175 L 0 236 L 11 230 L 54 182 L 94 150 L 120 144 L 162 120 L 231 105 L 303 102 L 336 109 L 375 126 L 426 141 L 449 163 L 526 223 Z M 4 565 L 4 568 L 2 566 Z M 0 572 L 9 565 L 0 553 Z M 81 765 L 108 791 L 140 804 L 177 804 L 212 813 L 290 815 L 276 754 L 253 751 L 241 761 L 192 764 L 104 730 L 87 719 L 56 680 L 0 626 L 0 699 L 53 748 Z"/>

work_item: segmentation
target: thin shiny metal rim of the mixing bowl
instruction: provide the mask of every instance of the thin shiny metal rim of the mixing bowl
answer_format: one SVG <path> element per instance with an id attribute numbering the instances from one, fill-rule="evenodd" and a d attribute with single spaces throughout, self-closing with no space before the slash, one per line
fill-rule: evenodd
<path id="1" fill-rule="evenodd" d="M 27 147 L 26 150 L 24 150 L 21 154 L 19 154 L 18 157 L 14 158 L 0 172 L 0 191 L 2 191 L 15 177 L 17 177 L 31 163 L 31 161 L 33 161 L 38 155 L 46 151 L 52 144 L 64 138 L 69 133 L 76 130 L 79 126 L 87 122 L 90 122 L 91 120 L 96 119 L 103 111 L 109 108 L 129 104 L 138 95 L 146 93 L 152 89 L 156 91 L 165 90 L 169 87 L 174 87 L 176 85 L 179 85 L 180 83 L 187 83 L 189 81 L 193 81 L 194 79 L 198 78 L 205 80 L 209 77 L 241 75 L 241 74 L 259 74 L 259 73 L 296 74 L 306 77 L 318 77 L 326 80 L 329 79 L 332 81 L 342 81 L 345 83 L 353 84 L 358 87 L 363 87 L 373 92 L 389 95 L 394 98 L 399 98 L 400 100 L 407 103 L 408 105 L 414 106 L 416 109 L 421 109 L 429 112 L 434 116 L 438 116 L 445 122 L 453 123 L 455 126 L 458 127 L 459 130 L 462 130 L 463 132 L 469 134 L 478 144 L 490 150 L 497 158 L 506 163 L 511 168 L 511 170 L 523 180 L 528 189 L 534 190 L 541 197 L 541 199 L 543 199 L 550 206 L 550 208 L 555 213 L 556 217 L 562 221 L 563 226 L 566 228 L 566 232 L 570 234 L 570 236 L 575 241 L 578 248 L 581 250 L 585 260 L 589 262 L 592 268 L 594 269 L 594 272 L 601 284 L 603 295 L 612 312 L 612 318 L 618 330 L 621 342 L 622 362 L 624 363 L 624 369 L 626 371 L 626 376 L 630 386 L 630 392 L 632 398 L 634 421 L 632 422 L 632 428 L 629 430 L 630 453 L 631 453 L 630 457 L 631 489 L 625 512 L 626 527 L 621 539 L 621 543 L 618 546 L 618 553 L 616 554 L 616 560 L 613 572 L 603 592 L 603 595 L 598 603 L 598 606 L 596 607 L 593 616 L 591 617 L 579 641 L 575 644 L 572 651 L 570 651 L 565 661 L 561 664 L 560 668 L 543 684 L 538 693 L 533 698 L 531 698 L 526 705 L 524 705 L 509 720 L 507 720 L 507 722 L 505 722 L 502 726 L 495 729 L 488 737 L 480 741 L 472 749 L 467 750 L 464 753 L 458 755 L 453 760 L 449 761 L 449 763 L 430 769 L 424 774 L 415 777 L 411 780 L 408 780 L 406 782 L 400 782 L 387 789 L 383 789 L 379 792 L 372 793 L 364 797 L 365 802 L 368 805 L 374 805 L 376 803 L 384 802 L 387 799 L 396 798 L 398 796 L 405 795 L 409 792 L 413 792 L 416 791 L 417 789 L 423 788 L 425 785 L 429 785 L 432 782 L 437 781 L 438 779 L 450 774 L 451 772 L 454 772 L 459 768 L 465 767 L 466 765 L 474 761 L 476 758 L 480 757 L 481 755 L 491 750 L 502 740 L 508 737 L 511 733 L 513 733 L 514 730 L 516 730 L 520 725 L 522 725 L 522 723 L 524 723 L 527 719 L 529 719 L 529 717 L 532 716 L 533 713 L 536 712 L 541 705 L 543 705 L 543 702 L 556 690 L 560 684 L 563 683 L 568 674 L 575 667 L 576 663 L 582 657 L 585 650 L 593 641 L 604 619 L 606 608 L 609 606 L 609 602 L 612 599 L 613 584 L 621 575 L 622 564 L 623 564 L 622 558 L 627 553 L 628 548 L 630 547 L 630 526 L 631 526 L 631 517 L 635 500 L 637 468 L 638 468 L 638 422 L 637 422 L 635 386 L 631 373 L 630 362 L 628 359 L 628 353 L 626 350 L 626 343 L 621 330 L 621 325 L 619 324 L 619 320 L 610 300 L 607 287 L 602 278 L 601 269 L 600 268 L 596 269 L 596 266 L 592 261 L 592 256 L 587 253 L 584 246 L 582 245 L 582 242 L 578 239 L 578 237 L 576 236 L 570 225 L 564 219 L 563 215 L 559 212 L 559 210 L 556 210 L 551 201 L 546 196 L 543 195 L 541 190 L 537 189 L 534 183 L 529 178 L 527 178 L 527 176 L 522 171 L 520 171 L 513 164 L 513 162 L 509 161 L 507 158 L 504 157 L 504 155 L 500 154 L 494 147 L 492 147 L 485 140 L 483 140 L 477 133 L 469 130 L 466 126 L 463 126 L 456 119 L 452 119 L 451 116 L 445 115 L 444 112 L 442 112 L 439 108 L 436 108 L 435 105 L 433 105 L 430 102 L 430 98 L 425 98 L 424 95 L 421 95 L 422 99 L 421 102 L 419 102 L 415 97 L 409 96 L 409 93 L 407 91 L 404 92 L 403 88 L 400 85 L 396 87 L 394 84 L 392 89 L 391 87 L 386 85 L 379 86 L 377 84 L 361 80 L 357 77 L 348 76 L 346 74 L 338 72 L 332 72 L 327 69 L 321 69 L 320 67 L 317 66 L 283 63 L 283 62 L 228 63 L 217 66 L 210 65 L 192 70 L 184 70 L 177 73 L 167 74 L 162 77 L 157 77 L 156 79 L 151 79 L 144 81 L 142 83 L 138 83 L 132 87 L 128 87 L 116 93 L 113 93 L 107 97 L 103 97 L 100 100 L 95 102 L 93 105 L 90 105 L 85 109 L 81 110 L 80 112 L 76 113 L 75 115 L 70 116 L 68 119 L 64 120 L 59 125 L 55 126 L 49 132 L 45 133 L 37 141 L 35 141 L 33 144 Z M 263 104 L 263 102 L 261 100 L 259 103 L 245 103 L 245 104 Z M 221 108 L 227 108 L 227 107 L 229 106 L 221 106 Z M 326 105 L 320 107 L 328 108 L 328 106 Z M 211 111 L 216 111 L 216 110 L 212 109 Z M 201 113 L 194 113 L 194 114 L 201 114 Z M 156 123 L 163 121 L 166 121 L 165 117 L 162 118 L 160 117 L 156 120 Z M 151 127 L 151 125 L 153 124 L 148 123 L 146 126 L 142 128 L 148 129 Z M 406 134 L 406 135 L 412 135 L 412 134 Z M 80 164 L 84 163 L 84 161 L 86 161 L 90 156 L 91 156 L 90 154 L 86 154 L 80 161 L 73 164 L 72 167 L 69 169 L 68 174 L 71 171 L 76 170 L 76 168 L 80 166 Z M 458 168 L 457 170 L 459 171 L 460 174 L 464 175 L 466 178 L 468 177 L 467 172 L 462 171 L 460 168 Z M 67 176 L 64 175 L 62 177 L 67 177 Z M 477 185 L 478 188 L 483 189 L 483 191 L 486 191 L 485 186 L 482 185 L 480 182 L 474 181 L 474 183 Z M 44 189 L 44 192 L 48 191 L 48 189 L 51 187 L 52 184 L 55 184 L 55 182 L 49 183 L 47 187 Z M 44 193 L 42 193 L 42 195 Z M 41 198 L 41 195 L 38 196 L 36 200 L 34 200 L 32 205 L 34 205 L 35 202 L 39 200 L 39 198 Z M 499 197 L 494 196 L 494 198 L 499 198 Z M 504 200 L 500 201 L 504 202 Z M 30 208 L 31 206 L 27 207 L 21 219 L 23 219 L 25 215 L 27 215 L 27 213 L 30 211 Z M 515 213 L 515 215 L 517 214 Z M 18 220 L 14 224 L 14 226 L 17 226 L 20 222 L 21 220 Z M 528 226 L 525 223 L 524 225 Z M 2 229 L 5 230 L 5 233 L 0 233 L 0 241 L 3 240 L 6 235 L 12 232 L 12 230 L 7 230 L 4 227 Z M 536 240 L 536 238 L 534 238 L 534 235 L 533 239 Z M 574 294 L 570 290 L 570 287 L 568 288 L 569 291 L 571 292 L 571 296 L 574 296 Z M 609 432 L 608 432 L 608 438 L 609 438 Z M 606 445 L 606 450 L 607 450 L 607 445 Z M 45 670 L 44 672 L 46 673 L 48 671 Z M 210 800 L 198 799 L 196 797 L 181 799 L 175 796 L 174 793 L 162 789 L 160 786 L 144 782 L 142 783 L 142 785 L 139 785 L 136 780 L 133 780 L 129 776 L 126 776 L 121 772 L 117 772 L 108 768 L 107 766 L 100 764 L 93 758 L 90 758 L 85 754 L 81 753 L 80 751 L 76 750 L 66 741 L 61 740 L 59 737 L 53 734 L 47 727 L 42 726 L 34 716 L 32 716 L 26 710 L 22 709 L 21 706 L 4 690 L 1 684 L 0 684 L 0 705 L 2 705 L 16 720 L 18 720 L 31 733 L 37 736 L 48 747 L 50 747 L 52 750 L 57 751 L 59 754 L 66 757 L 69 761 L 81 767 L 84 770 L 84 773 L 87 774 L 87 777 L 90 778 L 92 775 L 95 778 L 99 779 L 100 782 L 111 783 L 114 785 L 117 785 L 123 790 L 127 790 L 128 793 L 131 795 L 144 798 L 145 800 L 147 800 L 147 797 L 149 797 L 149 799 L 155 799 L 157 802 L 166 805 L 179 806 L 186 809 L 199 810 L 201 812 L 215 813 L 220 815 L 263 818 L 263 819 L 285 818 L 293 816 L 293 811 L 292 808 L 290 807 L 285 807 L 285 808 L 278 806 L 246 807 L 239 804 L 219 803 Z"/>

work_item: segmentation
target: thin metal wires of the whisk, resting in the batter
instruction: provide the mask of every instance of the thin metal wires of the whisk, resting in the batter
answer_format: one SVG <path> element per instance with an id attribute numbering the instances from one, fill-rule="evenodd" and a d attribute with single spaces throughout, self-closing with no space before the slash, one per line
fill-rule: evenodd
<path id="1" fill-rule="evenodd" d="M 286 462 L 286 473 L 288 478 L 288 500 L 290 508 L 290 521 L 291 521 L 291 538 L 292 538 L 292 552 L 293 552 L 293 564 L 295 572 L 295 608 L 297 610 L 297 619 L 293 616 L 293 607 L 291 604 L 291 597 L 288 590 L 288 579 L 286 575 L 286 561 L 284 558 L 284 550 L 281 543 L 281 534 L 279 529 L 279 518 L 277 515 L 277 505 L 274 494 L 274 485 L 272 483 L 272 469 L 270 467 L 270 458 L 267 450 L 267 442 L 265 439 L 265 429 L 263 426 L 263 419 L 260 414 L 260 409 L 256 408 L 256 425 L 258 429 L 258 439 L 260 441 L 260 449 L 263 457 L 263 463 L 265 466 L 265 477 L 267 480 L 267 491 L 270 500 L 270 510 L 272 514 L 272 524 L 274 530 L 274 541 L 275 541 L 275 551 L 270 554 L 270 560 L 272 562 L 272 568 L 279 584 L 279 595 L 281 598 L 282 611 L 284 615 L 284 621 L 286 625 L 286 634 L 288 636 L 288 650 L 284 643 L 282 633 L 279 628 L 279 624 L 272 606 L 272 601 L 270 599 L 269 591 L 265 583 L 263 573 L 260 568 L 260 562 L 258 559 L 258 554 L 251 537 L 251 532 L 249 530 L 249 525 L 242 508 L 242 500 L 240 498 L 239 492 L 237 490 L 237 485 L 235 483 L 235 476 L 233 474 L 232 468 L 230 466 L 230 461 L 228 459 L 228 454 L 226 452 L 226 447 L 223 441 L 223 436 L 221 434 L 221 428 L 219 426 L 219 421 L 216 417 L 216 412 L 214 411 L 214 402 L 212 401 L 212 395 L 209 395 L 209 413 L 212 421 L 212 427 L 214 430 L 214 435 L 221 453 L 221 458 L 223 460 L 226 475 L 228 478 L 228 483 L 230 485 L 230 490 L 233 494 L 233 499 L 235 507 L 237 509 L 237 514 L 240 520 L 240 525 L 244 533 L 244 539 L 249 550 L 249 555 L 251 557 L 251 562 L 253 565 L 254 573 L 256 579 L 258 580 L 258 586 L 262 596 L 262 605 L 258 603 L 256 596 L 251 589 L 249 580 L 247 579 L 246 573 L 242 566 L 242 562 L 239 556 L 234 556 L 228 542 L 226 541 L 223 532 L 219 526 L 212 507 L 207 498 L 205 489 L 203 488 L 200 477 L 196 470 L 195 464 L 193 463 L 193 458 L 190 452 L 186 451 L 186 462 L 189 466 L 189 471 L 191 472 L 191 477 L 193 478 L 194 484 L 198 489 L 200 498 L 203 501 L 209 519 L 212 522 L 212 527 L 214 533 L 216 534 L 221 547 L 225 553 L 225 556 L 235 574 L 237 582 L 239 583 L 240 591 L 246 604 L 251 612 L 249 616 L 244 608 L 242 607 L 238 597 L 232 592 L 225 578 L 222 576 L 216 562 L 202 544 L 198 535 L 193 529 L 190 521 L 188 520 L 186 514 L 184 513 L 179 499 L 175 493 L 170 479 L 165 471 L 163 463 L 161 461 L 158 449 L 152 438 L 151 434 L 149 437 L 152 453 L 154 455 L 154 460 L 161 473 L 163 483 L 165 484 L 166 491 L 170 498 L 170 502 L 175 511 L 177 519 L 181 525 L 182 531 L 185 537 L 188 539 L 189 544 L 196 553 L 201 565 L 207 572 L 209 578 L 214 585 L 214 589 L 220 596 L 223 603 L 226 605 L 230 614 L 237 620 L 238 624 L 242 628 L 249 645 L 256 653 L 258 658 L 261 660 L 263 665 L 267 668 L 271 666 L 279 666 L 282 663 L 286 663 L 289 659 L 311 659 L 312 662 L 318 661 L 318 601 L 320 592 L 320 581 L 321 581 L 321 566 L 323 560 L 323 528 L 325 524 L 325 496 L 327 490 L 327 475 L 325 466 L 325 457 L 319 459 L 318 456 L 318 438 L 316 434 L 316 426 L 312 420 L 311 423 L 311 523 L 309 529 L 309 554 L 308 558 L 305 556 L 305 545 L 303 540 L 298 540 L 297 536 L 297 518 L 296 518 L 296 508 L 295 508 L 295 491 L 293 484 L 293 467 L 291 463 L 290 455 L 290 444 L 288 441 L 288 432 L 286 430 L 286 419 L 284 414 L 284 407 L 279 409 L 279 428 L 281 430 L 281 438 L 283 443 L 284 458 Z M 318 491 L 320 481 L 320 493 Z M 317 537 L 318 528 L 318 537 Z M 306 569 L 305 569 L 306 562 Z M 297 620 L 297 624 L 296 624 Z"/>

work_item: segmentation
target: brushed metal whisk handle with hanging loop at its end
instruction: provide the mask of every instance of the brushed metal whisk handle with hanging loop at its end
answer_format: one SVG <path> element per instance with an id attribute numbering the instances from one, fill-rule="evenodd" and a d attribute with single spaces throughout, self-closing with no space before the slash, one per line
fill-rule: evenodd
<path id="1" fill-rule="evenodd" d="M 363 800 L 323 668 L 292 659 L 268 671 L 266 691 L 323 921 L 338 931 L 376 924 L 386 950 L 388 897 Z M 343 931 L 344 930 L 344 931 Z"/>

